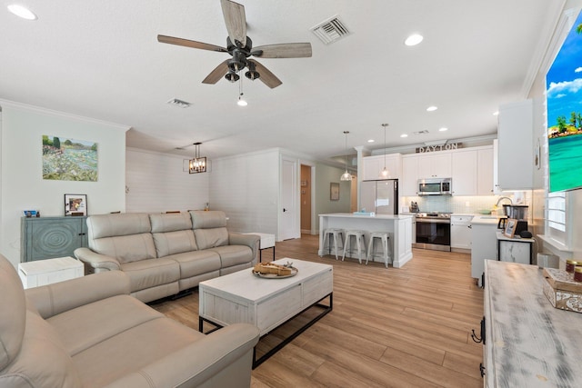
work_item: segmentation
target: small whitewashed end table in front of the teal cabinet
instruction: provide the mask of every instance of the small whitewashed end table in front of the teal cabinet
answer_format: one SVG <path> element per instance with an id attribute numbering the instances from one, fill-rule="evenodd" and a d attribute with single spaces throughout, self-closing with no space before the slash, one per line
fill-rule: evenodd
<path id="1" fill-rule="evenodd" d="M 18 275 L 25 288 L 63 282 L 85 275 L 85 265 L 73 257 L 35 260 L 18 264 Z"/>

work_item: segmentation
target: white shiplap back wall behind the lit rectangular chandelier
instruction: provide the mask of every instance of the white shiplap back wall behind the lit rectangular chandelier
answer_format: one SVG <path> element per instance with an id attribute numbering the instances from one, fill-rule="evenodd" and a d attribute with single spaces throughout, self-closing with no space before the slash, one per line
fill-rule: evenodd
<path id="1" fill-rule="evenodd" d="M 208 201 L 211 173 L 183 171 L 186 157 L 127 148 L 125 210 L 164 213 L 202 210 Z"/>

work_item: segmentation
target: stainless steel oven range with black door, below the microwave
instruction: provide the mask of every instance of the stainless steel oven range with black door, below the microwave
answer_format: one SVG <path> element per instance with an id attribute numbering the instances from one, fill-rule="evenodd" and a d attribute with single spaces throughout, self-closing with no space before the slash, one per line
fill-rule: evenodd
<path id="1" fill-rule="evenodd" d="M 451 250 L 451 214 L 428 212 L 416 214 L 415 248 Z"/>

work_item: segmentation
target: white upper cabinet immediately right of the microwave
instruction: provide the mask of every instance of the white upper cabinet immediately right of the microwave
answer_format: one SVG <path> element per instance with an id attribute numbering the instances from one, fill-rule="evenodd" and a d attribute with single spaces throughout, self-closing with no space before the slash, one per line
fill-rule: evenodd
<path id="1" fill-rule="evenodd" d="M 477 194 L 477 151 L 463 150 L 451 154 L 453 195 Z"/>

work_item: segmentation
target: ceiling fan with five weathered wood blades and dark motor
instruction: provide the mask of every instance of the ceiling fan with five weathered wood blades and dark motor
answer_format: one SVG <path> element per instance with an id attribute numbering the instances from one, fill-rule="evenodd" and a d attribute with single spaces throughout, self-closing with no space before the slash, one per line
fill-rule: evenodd
<path id="1" fill-rule="evenodd" d="M 217 51 L 219 53 L 228 53 L 232 56 L 217 65 L 202 81 L 203 84 L 216 84 L 223 76 L 230 82 L 236 82 L 240 78 L 238 72 L 248 68 L 245 74 L 246 78 L 250 80 L 258 78 L 268 87 L 274 88 L 282 84 L 281 80 L 264 65 L 251 59 L 251 56 L 257 58 L 304 58 L 311 56 L 310 43 L 287 43 L 253 47 L 253 41 L 246 36 L 245 6 L 230 0 L 220 0 L 220 4 L 222 5 L 222 13 L 225 16 L 226 30 L 228 31 L 226 48 L 173 36 L 157 35 L 157 41 L 160 43 Z"/>

